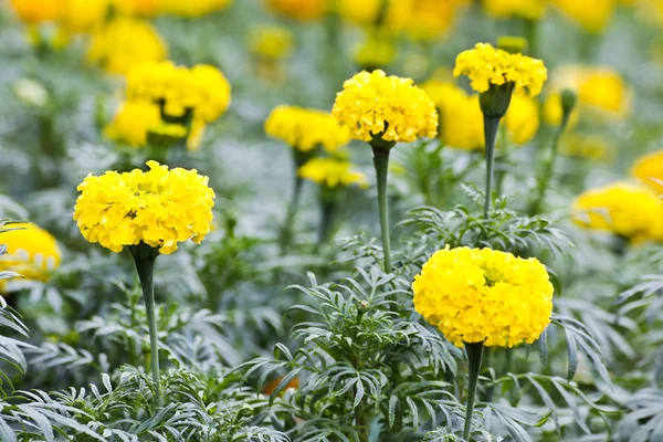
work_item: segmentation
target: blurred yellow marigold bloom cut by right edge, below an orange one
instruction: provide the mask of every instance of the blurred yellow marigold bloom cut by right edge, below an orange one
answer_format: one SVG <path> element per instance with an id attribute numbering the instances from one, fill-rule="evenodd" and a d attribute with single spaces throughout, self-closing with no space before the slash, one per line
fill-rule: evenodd
<path id="1" fill-rule="evenodd" d="M 573 222 L 641 242 L 661 239 L 663 202 L 644 186 L 617 182 L 588 190 L 572 204 Z"/>

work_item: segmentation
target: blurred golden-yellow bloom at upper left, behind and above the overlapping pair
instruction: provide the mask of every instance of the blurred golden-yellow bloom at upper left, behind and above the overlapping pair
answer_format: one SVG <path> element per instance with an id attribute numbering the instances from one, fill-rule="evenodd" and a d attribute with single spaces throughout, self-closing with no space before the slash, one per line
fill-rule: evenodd
<path id="1" fill-rule="evenodd" d="M 119 17 L 93 34 L 87 59 L 124 75 L 136 65 L 161 61 L 166 54 L 166 44 L 151 24 Z"/>

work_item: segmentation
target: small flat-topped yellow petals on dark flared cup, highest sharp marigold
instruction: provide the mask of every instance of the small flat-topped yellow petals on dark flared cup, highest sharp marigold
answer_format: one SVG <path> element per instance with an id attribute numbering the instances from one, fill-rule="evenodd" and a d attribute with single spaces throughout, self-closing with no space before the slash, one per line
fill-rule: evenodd
<path id="1" fill-rule="evenodd" d="M 467 75 L 472 88 L 478 93 L 486 92 L 492 84 L 498 86 L 513 82 L 516 94 L 527 91 L 530 96 L 537 96 L 548 71 L 540 60 L 511 54 L 488 43 L 477 43 L 474 49 L 459 54 L 453 75 Z"/>

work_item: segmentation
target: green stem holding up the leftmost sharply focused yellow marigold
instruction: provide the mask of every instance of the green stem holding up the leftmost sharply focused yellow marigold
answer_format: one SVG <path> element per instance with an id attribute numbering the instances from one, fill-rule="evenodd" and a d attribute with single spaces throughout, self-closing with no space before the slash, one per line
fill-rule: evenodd
<path id="1" fill-rule="evenodd" d="M 143 245 L 143 244 L 141 244 Z M 155 317 L 155 286 L 154 286 L 154 269 L 157 256 L 154 254 L 139 256 L 134 253 L 134 262 L 136 263 L 136 272 L 140 280 L 143 288 L 143 298 L 145 299 L 145 309 L 147 312 L 147 323 L 149 326 L 149 344 L 150 359 L 152 369 L 152 379 L 155 382 L 155 404 L 161 407 L 161 382 L 159 371 L 159 340 L 157 337 L 157 319 Z"/>

